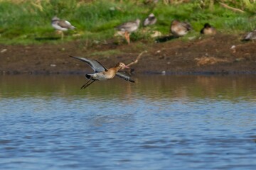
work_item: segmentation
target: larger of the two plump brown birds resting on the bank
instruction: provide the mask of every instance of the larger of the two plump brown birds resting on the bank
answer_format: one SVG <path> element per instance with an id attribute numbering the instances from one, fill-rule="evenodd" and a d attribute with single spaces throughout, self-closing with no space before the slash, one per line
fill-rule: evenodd
<path id="1" fill-rule="evenodd" d="M 190 23 L 187 22 L 180 22 L 178 20 L 171 21 L 171 28 L 170 32 L 175 36 L 175 37 L 181 37 L 183 35 L 186 35 L 189 30 L 192 30 L 192 27 Z"/>

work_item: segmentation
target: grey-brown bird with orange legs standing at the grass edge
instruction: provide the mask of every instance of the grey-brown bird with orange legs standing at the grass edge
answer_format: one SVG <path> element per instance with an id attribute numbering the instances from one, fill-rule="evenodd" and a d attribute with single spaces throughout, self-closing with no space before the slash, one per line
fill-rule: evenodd
<path id="1" fill-rule="evenodd" d="M 117 30 L 124 33 L 124 38 L 127 40 L 128 44 L 130 43 L 129 34 L 139 28 L 139 23 L 140 23 L 140 20 L 137 19 L 136 21 L 129 21 L 127 23 L 123 23 L 120 26 L 116 27 Z"/>

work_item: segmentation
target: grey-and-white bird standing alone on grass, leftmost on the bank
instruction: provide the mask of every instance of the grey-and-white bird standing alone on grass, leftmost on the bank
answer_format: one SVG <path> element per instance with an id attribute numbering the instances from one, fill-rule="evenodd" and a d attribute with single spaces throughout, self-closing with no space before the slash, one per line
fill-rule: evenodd
<path id="1" fill-rule="evenodd" d="M 66 31 L 68 29 L 73 30 L 75 27 L 71 25 L 70 22 L 65 21 L 65 20 L 60 20 L 60 18 L 58 18 L 57 16 L 54 16 L 52 18 L 51 24 L 53 26 L 53 28 L 55 28 L 57 31 L 60 32 L 61 34 L 61 40 L 63 40 L 64 37 L 64 33 L 63 30 Z"/>

